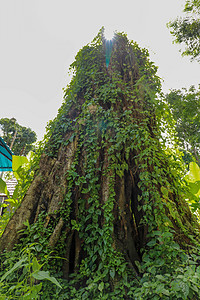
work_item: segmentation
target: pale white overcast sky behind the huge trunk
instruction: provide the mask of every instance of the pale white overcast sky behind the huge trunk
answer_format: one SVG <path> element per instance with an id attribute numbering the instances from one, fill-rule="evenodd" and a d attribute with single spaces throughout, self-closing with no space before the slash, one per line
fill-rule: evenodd
<path id="1" fill-rule="evenodd" d="M 150 50 L 163 90 L 200 83 L 200 65 L 182 58 L 166 23 L 184 0 L 0 0 L 0 118 L 15 117 L 42 139 L 70 77 L 69 65 L 102 26 Z"/>

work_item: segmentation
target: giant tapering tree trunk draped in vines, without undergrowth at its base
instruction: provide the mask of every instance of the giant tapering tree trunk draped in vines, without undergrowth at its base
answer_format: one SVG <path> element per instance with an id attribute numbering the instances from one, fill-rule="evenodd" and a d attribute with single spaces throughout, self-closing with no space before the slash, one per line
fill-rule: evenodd
<path id="1" fill-rule="evenodd" d="M 120 34 L 108 68 L 101 36 L 78 54 L 66 102 L 49 129 L 39 171 L 0 239 L 1 251 L 23 243 L 26 220 L 42 222 L 46 246 L 66 258 L 64 278 L 80 266 L 102 270 L 117 256 L 137 276 L 155 231 L 172 232 L 184 249 L 193 244 L 199 227 L 159 141 L 159 80 L 146 56 Z"/>

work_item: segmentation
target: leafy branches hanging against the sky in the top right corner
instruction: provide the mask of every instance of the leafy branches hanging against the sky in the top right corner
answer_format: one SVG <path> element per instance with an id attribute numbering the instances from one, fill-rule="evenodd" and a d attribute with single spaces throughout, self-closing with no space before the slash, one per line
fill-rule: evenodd
<path id="1" fill-rule="evenodd" d="M 171 34 L 175 42 L 184 44 L 182 55 L 188 55 L 192 59 L 200 60 L 200 1 L 187 0 L 184 8 L 184 18 L 177 18 L 169 22 Z"/>

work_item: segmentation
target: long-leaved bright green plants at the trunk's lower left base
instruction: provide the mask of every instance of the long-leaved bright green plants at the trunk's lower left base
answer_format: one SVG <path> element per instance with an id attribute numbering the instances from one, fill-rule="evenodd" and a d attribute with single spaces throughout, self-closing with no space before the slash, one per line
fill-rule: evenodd
<path id="1" fill-rule="evenodd" d="M 22 249 L 18 253 L 20 259 L 14 252 L 4 255 L 4 261 L 1 261 L 1 299 L 41 299 L 44 280 L 62 289 L 56 278 L 50 276 L 49 271 L 42 270 L 44 263 L 41 264 L 33 254 L 36 246 L 37 243 L 33 243 Z"/>

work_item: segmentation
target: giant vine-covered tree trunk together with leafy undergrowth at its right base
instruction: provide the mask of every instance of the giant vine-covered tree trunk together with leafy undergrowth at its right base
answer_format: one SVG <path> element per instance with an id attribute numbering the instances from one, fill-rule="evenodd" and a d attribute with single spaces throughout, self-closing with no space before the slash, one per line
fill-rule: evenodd
<path id="1" fill-rule="evenodd" d="M 147 50 L 119 33 L 108 62 L 101 31 L 71 68 L 33 182 L 1 236 L 2 272 L 29 247 L 63 285 L 47 284 L 42 299 L 200 295 L 199 224 L 160 143 L 161 85 Z M 15 283 L 8 276 L 2 292 Z"/>

